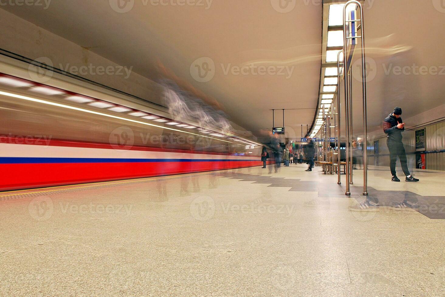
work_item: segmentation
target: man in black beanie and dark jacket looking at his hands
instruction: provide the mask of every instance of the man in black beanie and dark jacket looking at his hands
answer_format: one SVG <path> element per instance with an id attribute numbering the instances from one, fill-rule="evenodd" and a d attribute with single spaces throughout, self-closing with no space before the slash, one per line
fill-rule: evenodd
<path id="1" fill-rule="evenodd" d="M 418 182 L 417 178 L 414 178 L 408 169 L 408 165 L 406 164 L 406 153 L 405 147 L 402 143 L 402 131 L 405 130 L 405 123 L 403 123 L 402 118 L 400 117 L 402 114 L 402 109 L 400 107 L 394 108 L 394 111 L 388 115 L 383 121 L 383 131 L 387 134 L 387 144 L 389 149 L 389 167 L 391 168 L 393 182 L 400 182 L 400 179 L 397 178 L 396 175 L 396 161 L 397 156 L 400 159 L 400 164 L 402 166 L 403 173 L 405 174 L 406 182 Z"/>

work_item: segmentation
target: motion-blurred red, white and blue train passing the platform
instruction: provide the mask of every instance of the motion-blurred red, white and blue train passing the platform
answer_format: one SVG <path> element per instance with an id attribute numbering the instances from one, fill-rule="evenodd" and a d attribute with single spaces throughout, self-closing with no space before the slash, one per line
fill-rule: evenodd
<path id="1" fill-rule="evenodd" d="M 10 57 L 0 66 L 0 190 L 262 165 L 260 143 Z"/>

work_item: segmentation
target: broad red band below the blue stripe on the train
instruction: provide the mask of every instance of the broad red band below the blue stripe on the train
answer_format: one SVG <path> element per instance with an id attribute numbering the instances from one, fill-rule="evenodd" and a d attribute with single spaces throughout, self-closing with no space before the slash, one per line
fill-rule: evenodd
<path id="1" fill-rule="evenodd" d="M 271 161 L 268 161 L 271 163 Z M 1 191 L 232 169 L 260 161 L 3 164 Z M 7 173 L 7 174 L 6 174 Z"/>

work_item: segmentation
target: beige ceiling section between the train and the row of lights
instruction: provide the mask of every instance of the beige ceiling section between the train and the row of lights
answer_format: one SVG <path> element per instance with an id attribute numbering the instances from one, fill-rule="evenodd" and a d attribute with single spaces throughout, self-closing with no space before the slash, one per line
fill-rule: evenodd
<path id="1" fill-rule="evenodd" d="M 116 63 L 132 65 L 133 71 L 146 77 L 156 79 L 160 61 L 218 100 L 232 121 L 256 135 L 272 127 L 270 109 L 301 108 L 285 113 L 285 125 L 298 131 L 298 137 L 300 125 L 312 123 L 320 77 L 321 4 L 196 0 L 190 2 L 195 5 L 174 6 L 186 1 L 169 0 L 163 2 L 168 5 L 155 6 L 159 1 L 133 2 L 126 13 L 114 11 L 113 0 L 53 1 L 46 10 L 3 8 Z M 283 13 L 286 9 L 291 11 Z M 201 57 L 215 64 L 208 82 L 190 74 L 190 66 Z M 249 66 L 252 63 L 254 67 Z M 246 65 L 240 71 L 237 68 Z M 275 120 L 280 127 L 282 111 L 276 112 Z"/>

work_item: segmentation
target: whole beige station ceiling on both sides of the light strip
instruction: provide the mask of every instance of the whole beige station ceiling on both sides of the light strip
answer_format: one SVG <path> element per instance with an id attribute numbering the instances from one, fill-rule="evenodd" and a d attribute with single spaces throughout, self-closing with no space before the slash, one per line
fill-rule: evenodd
<path id="1" fill-rule="evenodd" d="M 284 125 L 300 137 L 301 125 L 311 126 L 320 98 L 323 10 L 339 1 L 324 2 L 70 0 L 53 1 L 45 10 L 2 8 L 115 63 L 134 66 L 150 79 L 158 77 L 162 63 L 255 135 L 272 127 L 271 109 L 279 110 L 276 127 L 283 124 L 280 109 L 288 109 Z M 430 71 L 445 67 L 441 0 L 362 3 L 368 57 L 376 65 L 368 82 L 369 130 L 378 129 L 395 106 L 408 118 L 443 104 L 445 70 L 441 75 Z M 398 75 L 397 66 L 429 71 Z M 355 84 L 353 123 L 359 134 L 361 89 L 359 81 Z"/>

